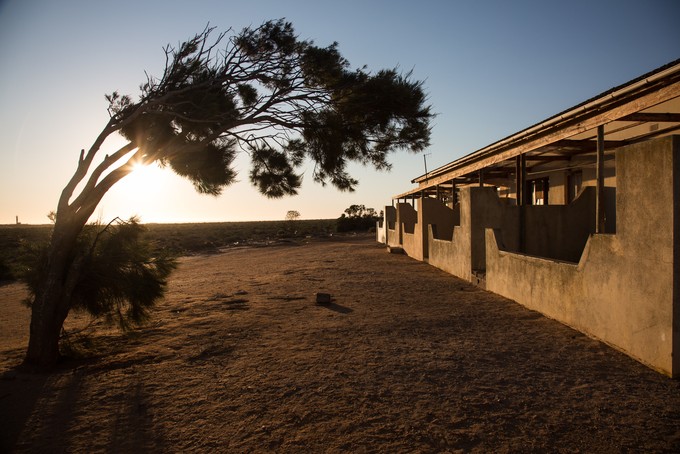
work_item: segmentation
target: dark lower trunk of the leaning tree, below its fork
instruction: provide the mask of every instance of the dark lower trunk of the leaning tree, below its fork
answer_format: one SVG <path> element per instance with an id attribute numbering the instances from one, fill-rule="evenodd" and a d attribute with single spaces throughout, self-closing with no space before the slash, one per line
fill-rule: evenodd
<path id="1" fill-rule="evenodd" d="M 65 225 L 64 225 L 65 224 Z M 69 225 L 71 224 L 71 225 Z M 57 221 L 52 233 L 43 283 L 37 290 L 31 308 L 31 328 L 24 365 L 34 370 L 47 370 L 59 360 L 59 335 L 71 308 L 69 275 L 72 251 L 78 233 L 74 223 Z"/>

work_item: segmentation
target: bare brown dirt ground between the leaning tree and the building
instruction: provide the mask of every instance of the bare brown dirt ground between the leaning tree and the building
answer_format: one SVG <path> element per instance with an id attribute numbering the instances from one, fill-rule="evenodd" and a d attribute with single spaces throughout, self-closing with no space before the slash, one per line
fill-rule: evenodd
<path id="1" fill-rule="evenodd" d="M 14 369 L 23 297 L 0 451 L 680 452 L 680 381 L 371 237 L 183 258 L 148 326 L 51 374 Z"/>

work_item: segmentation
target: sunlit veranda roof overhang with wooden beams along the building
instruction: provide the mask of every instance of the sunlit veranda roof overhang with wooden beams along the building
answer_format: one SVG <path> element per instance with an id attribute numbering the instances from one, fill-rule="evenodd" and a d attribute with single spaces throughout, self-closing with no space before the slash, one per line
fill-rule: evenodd
<path id="1" fill-rule="evenodd" d="M 487 182 L 507 177 L 520 155 L 534 171 L 577 166 L 594 156 L 599 126 L 604 126 L 606 150 L 680 130 L 680 60 L 421 175 L 411 181 L 418 187 L 393 198 L 471 184 L 479 181 L 480 172 Z"/>

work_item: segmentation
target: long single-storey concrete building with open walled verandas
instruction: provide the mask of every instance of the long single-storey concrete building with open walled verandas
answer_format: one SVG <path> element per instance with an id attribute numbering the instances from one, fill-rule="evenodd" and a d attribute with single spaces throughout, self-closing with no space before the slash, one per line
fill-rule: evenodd
<path id="1" fill-rule="evenodd" d="M 680 60 L 415 178 L 378 240 L 678 377 L 679 130 Z"/>

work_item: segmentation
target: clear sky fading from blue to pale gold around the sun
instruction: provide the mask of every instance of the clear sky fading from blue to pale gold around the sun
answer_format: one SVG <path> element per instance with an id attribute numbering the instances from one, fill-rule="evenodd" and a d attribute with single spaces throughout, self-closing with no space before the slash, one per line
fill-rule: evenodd
<path id="1" fill-rule="evenodd" d="M 680 57 L 677 0 L 0 0 L 0 224 L 48 222 L 79 150 L 108 120 L 104 94 L 136 95 L 145 70 L 162 71 L 165 44 L 208 22 L 240 30 L 281 17 L 301 38 L 337 41 L 355 67 L 398 66 L 425 80 L 438 113 L 430 169 Z M 300 195 L 276 201 L 250 186 L 245 160 L 241 182 L 219 198 L 150 171 L 123 180 L 97 215 L 201 222 L 380 210 L 424 171 L 422 155 L 391 162 L 391 173 L 353 166 L 351 194 L 313 183 L 310 169 Z"/>

